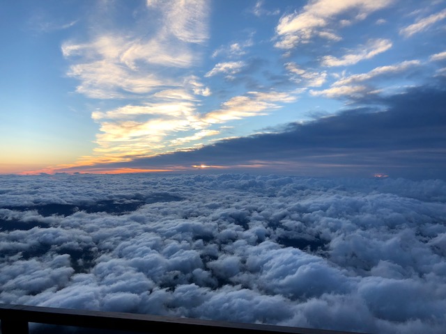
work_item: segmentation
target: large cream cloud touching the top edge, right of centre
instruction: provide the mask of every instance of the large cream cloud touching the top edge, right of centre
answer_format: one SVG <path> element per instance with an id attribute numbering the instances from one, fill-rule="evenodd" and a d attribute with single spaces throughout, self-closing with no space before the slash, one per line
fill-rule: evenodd
<path id="1" fill-rule="evenodd" d="M 393 1 L 380 0 L 371 3 L 366 0 L 311 1 L 300 13 L 284 15 L 276 27 L 278 42 L 275 47 L 279 49 L 293 49 L 301 43 L 307 43 L 315 36 L 339 40 L 339 36 L 332 32 L 336 18 L 344 13 L 351 13 L 353 20 L 363 20 L 369 14 L 390 6 Z"/>

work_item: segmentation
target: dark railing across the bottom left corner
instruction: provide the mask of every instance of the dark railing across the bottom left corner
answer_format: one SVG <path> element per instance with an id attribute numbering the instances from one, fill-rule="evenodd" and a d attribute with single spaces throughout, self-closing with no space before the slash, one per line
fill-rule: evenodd
<path id="1" fill-rule="evenodd" d="M 0 304 L 0 320 L 1 334 L 28 334 L 29 322 L 151 334 L 353 334 L 312 328 L 8 304 Z"/>

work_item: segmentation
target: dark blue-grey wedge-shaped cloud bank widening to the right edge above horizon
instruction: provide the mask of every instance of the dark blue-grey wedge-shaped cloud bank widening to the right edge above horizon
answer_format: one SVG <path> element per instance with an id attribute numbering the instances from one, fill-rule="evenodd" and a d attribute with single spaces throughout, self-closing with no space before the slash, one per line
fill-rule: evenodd
<path id="1" fill-rule="evenodd" d="M 410 88 L 388 97 L 361 97 L 353 109 L 304 124 L 289 124 L 277 133 L 100 167 L 209 164 L 237 168 L 260 163 L 266 164 L 268 173 L 360 177 L 385 173 L 445 180 L 445 82 L 439 79 L 438 86 Z"/>

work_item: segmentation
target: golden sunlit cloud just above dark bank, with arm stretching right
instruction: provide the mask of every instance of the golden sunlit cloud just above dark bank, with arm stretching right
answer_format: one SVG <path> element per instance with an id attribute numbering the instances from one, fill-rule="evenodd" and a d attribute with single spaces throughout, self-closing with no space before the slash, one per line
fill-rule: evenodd
<path id="1" fill-rule="evenodd" d="M 170 152 L 169 147 L 176 147 L 176 150 L 190 149 L 185 145 L 194 141 L 200 141 L 194 145 L 201 146 L 203 140 L 209 142 L 212 140 L 208 137 L 221 134 L 220 130 L 208 129 L 213 124 L 266 115 L 281 108 L 283 103 L 294 102 L 296 95 L 301 92 L 249 92 L 222 103 L 219 110 L 201 115 L 195 110 L 193 102 L 182 100 L 185 95 L 183 90 L 161 91 L 160 95 L 168 96 L 172 102 L 128 105 L 106 112 L 94 111 L 91 117 L 100 123 L 101 133 L 96 136 L 98 147 L 93 152 L 98 158 L 108 157 L 119 161 L 119 157 L 153 157 Z M 175 100 L 177 96 L 179 98 Z M 84 161 L 78 162 L 91 164 L 94 160 L 95 157 L 86 157 Z"/>

